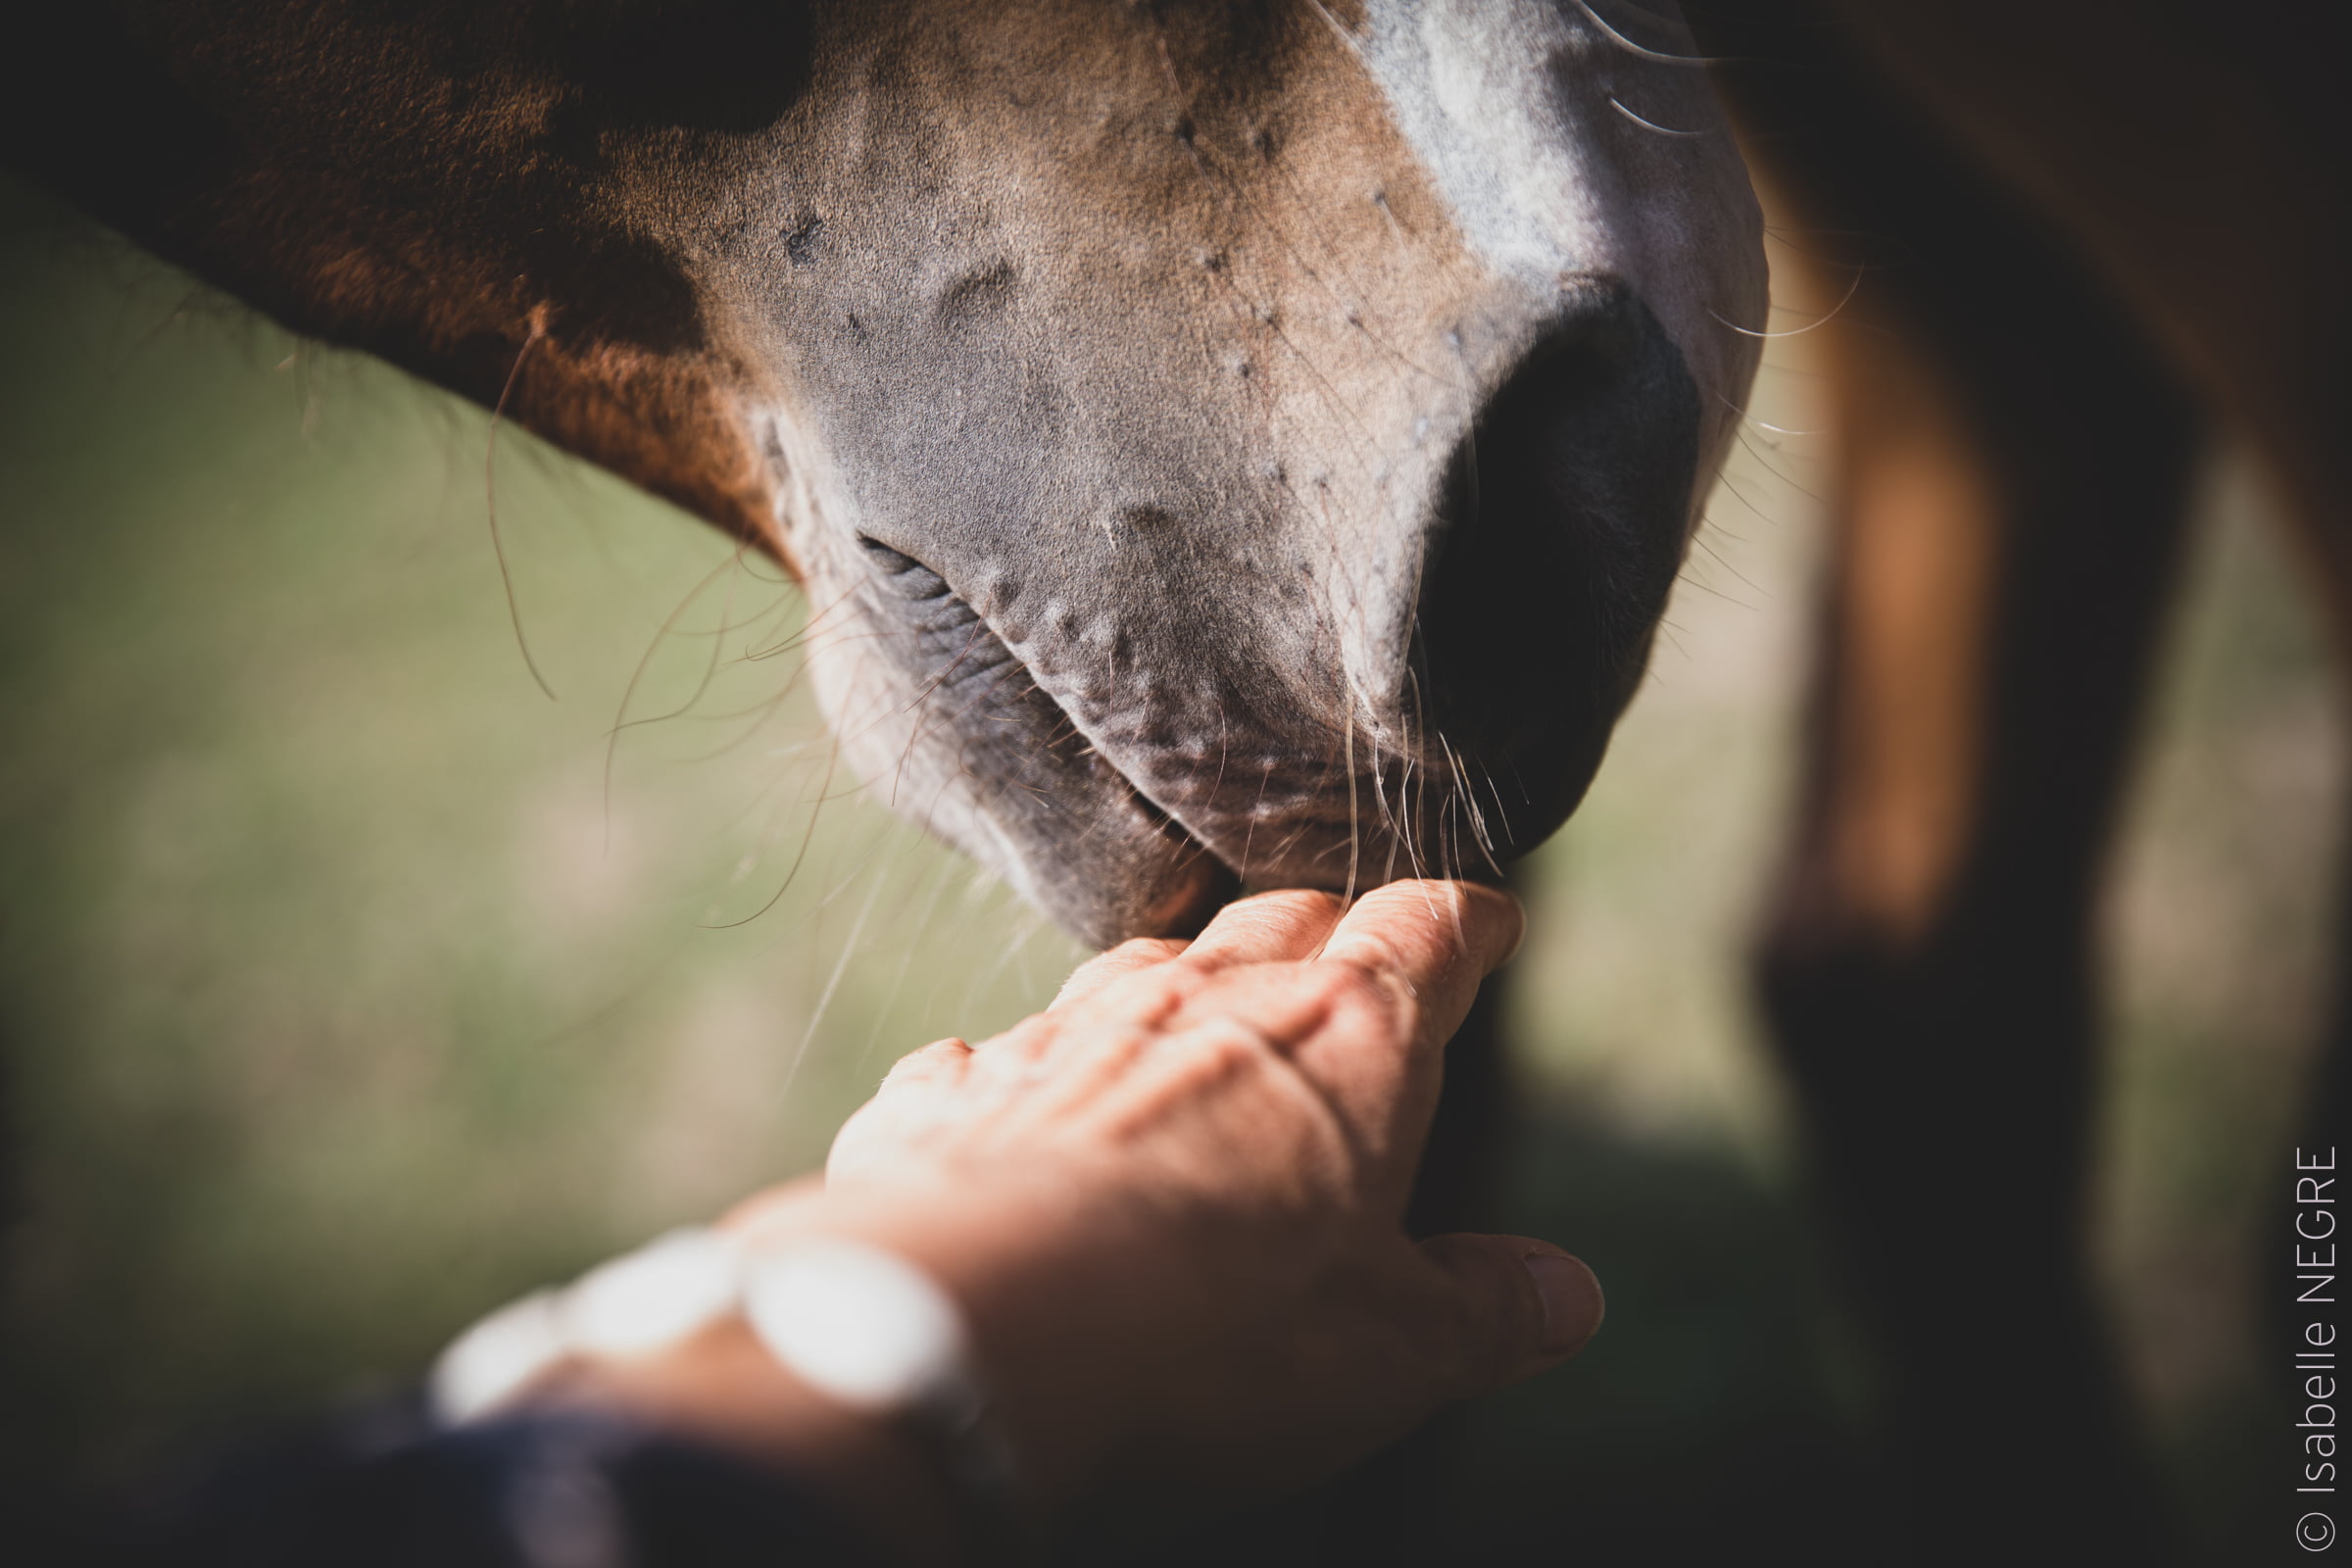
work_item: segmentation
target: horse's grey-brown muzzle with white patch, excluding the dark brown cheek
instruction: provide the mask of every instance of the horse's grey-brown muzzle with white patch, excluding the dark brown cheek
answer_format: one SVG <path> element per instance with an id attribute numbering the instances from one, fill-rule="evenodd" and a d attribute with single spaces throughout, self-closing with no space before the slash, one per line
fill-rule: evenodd
<path id="1" fill-rule="evenodd" d="M 1755 367 L 1703 80 L 1548 0 L 814 42 L 699 282 L 847 759 L 1098 943 L 1555 830 Z"/>

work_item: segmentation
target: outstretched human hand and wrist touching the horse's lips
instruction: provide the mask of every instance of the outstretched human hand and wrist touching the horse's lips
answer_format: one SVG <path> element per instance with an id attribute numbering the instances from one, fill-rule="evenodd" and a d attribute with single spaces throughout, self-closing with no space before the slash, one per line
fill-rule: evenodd
<path id="1" fill-rule="evenodd" d="M 938 1281 L 1033 1523 L 1312 1481 L 1599 1326 L 1599 1286 L 1550 1244 L 1402 1229 L 1444 1041 L 1519 926 L 1508 893 L 1399 882 L 1127 943 L 1014 1030 L 903 1058 L 821 1182 L 724 1227 L 851 1237 Z M 741 1326 L 569 1389 L 823 1469 L 884 1528 L 924 1486 Z"/>

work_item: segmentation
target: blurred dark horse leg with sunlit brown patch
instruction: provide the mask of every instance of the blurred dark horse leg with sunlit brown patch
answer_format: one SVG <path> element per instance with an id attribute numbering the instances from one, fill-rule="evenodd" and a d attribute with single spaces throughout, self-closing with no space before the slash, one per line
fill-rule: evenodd
<path id="1" fill-rule="evenodd" d="M 1816 334 L 1837 552 L 1766 1016 L 1884 1356 L 1915 1554 L 2166 1561 L 2084 1194 L 2091 922 L 2194 421 L 2063 244 L 1795 38 L 1795 66 L 1724 73 L 1733 108 L 1802 176 L 1799 244 L 1879 244 Z"/>

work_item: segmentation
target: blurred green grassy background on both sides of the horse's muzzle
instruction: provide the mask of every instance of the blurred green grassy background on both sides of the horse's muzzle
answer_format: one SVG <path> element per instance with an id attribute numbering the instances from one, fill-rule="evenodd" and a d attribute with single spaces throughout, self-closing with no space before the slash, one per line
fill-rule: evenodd
<path id="1" fill-rule="evenodd" d="M 1611 1316 L 1454 1425 L 1456 1561 L 1872 1561 L 1870 1373 L 1743 971 L 1811 632 L 1802 348 L 1771 346 L 1649 684 L 1531 865 L 1510 1222 L 1581 1251 Z M 14 183 L 0 400 L 0 1469 L 28 1495 L 397 1389 L 501 1300 L 814 1168 L 898 1053 L 1082 957 L 828 769 L 774 569 Z M 2345 743 L 2227 454 L 2192 581 L 2107 907 L 2098 1239 L 2230 1554 L 2277 1528 L 2256 1227 Z"/>

